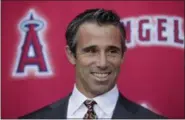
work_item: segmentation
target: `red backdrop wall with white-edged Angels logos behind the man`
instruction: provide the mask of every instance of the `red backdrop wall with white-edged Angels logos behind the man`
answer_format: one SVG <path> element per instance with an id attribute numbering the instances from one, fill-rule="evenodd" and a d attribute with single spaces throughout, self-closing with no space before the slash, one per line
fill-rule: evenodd
<path id="1" fill-rule="evenodd" d="M 64 34 L 88 8 L 115 10 L 127 28 L 120 91 L 156 113 L 184 118 L 184 2 L 179 1 L 2 1 L 2 118 L 17 118 L 71 92 L 75 76 Z"/>

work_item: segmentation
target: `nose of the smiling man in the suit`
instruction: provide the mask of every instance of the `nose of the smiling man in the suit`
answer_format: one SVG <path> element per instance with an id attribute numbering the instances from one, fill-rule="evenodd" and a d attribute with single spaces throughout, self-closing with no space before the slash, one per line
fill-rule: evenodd
<path id="1" fill-rule="evenodd" d="M 97 67 L 101 69 L 107 69 L 107 56 L 104 52 L 99 54 Z"/>

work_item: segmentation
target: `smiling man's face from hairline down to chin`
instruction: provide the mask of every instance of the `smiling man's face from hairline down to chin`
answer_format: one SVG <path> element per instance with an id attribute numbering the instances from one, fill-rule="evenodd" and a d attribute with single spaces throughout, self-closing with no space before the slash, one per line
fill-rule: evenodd
<path id="1" fill-rule="evenodd" d="M 77 33 L 76 84 L 87 97 L 114 87 L 122 63 L 121 33 L 113 25 L 84 23 Z"/>

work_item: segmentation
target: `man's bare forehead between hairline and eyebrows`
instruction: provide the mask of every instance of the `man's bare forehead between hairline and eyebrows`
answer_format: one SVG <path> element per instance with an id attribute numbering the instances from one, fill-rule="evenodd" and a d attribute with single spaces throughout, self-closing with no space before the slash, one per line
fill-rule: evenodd
<path id="1" fill-rule="evenodd" d="M 90 45 L 107 47 L 121 47 L 121 32 L 114 25 L 98 25 L 97 23 L 84 23 L 77 33 L 77 43 L 80 47 Z"/>

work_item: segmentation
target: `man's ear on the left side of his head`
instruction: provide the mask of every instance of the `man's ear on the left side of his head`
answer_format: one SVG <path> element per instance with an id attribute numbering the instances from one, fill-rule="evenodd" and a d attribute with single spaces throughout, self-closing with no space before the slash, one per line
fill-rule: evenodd
<path id="1" fill-rule="evenodd" d="M 76 64 L 76 58 L 75 58 L 74 54 L 71 52 L 69 46 L 65 47 L 65 53 L 66 53 L 66 56 L 67 56 L 69 62 L 71 64 L 75 65 Z"/>

